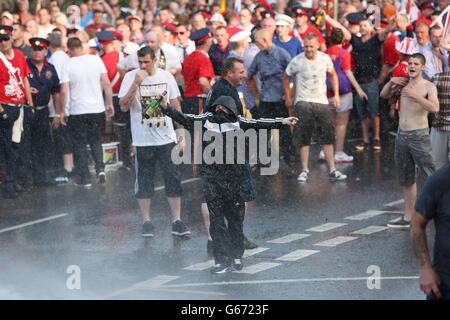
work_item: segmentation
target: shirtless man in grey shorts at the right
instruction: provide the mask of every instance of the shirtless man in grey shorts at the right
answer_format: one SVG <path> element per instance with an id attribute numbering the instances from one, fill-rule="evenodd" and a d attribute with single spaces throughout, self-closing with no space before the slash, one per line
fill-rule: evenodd
<path id="1" fill-rule="evenodd" d="M 407 78 L 392 78 L 381 91 L 380 96 L 387 99 L 393 85 L 404 86 L 400 97 L 399 130 L 395 141 L 395 162 L 400 185 L 404 188 L 405 216 L 391 228 L 409 228 L 416 201 L 417 166 L 428 177 L 434 171 L 431 156 L 431 142 L 428 129 L 428 112 L 439 111 L 436 86 L 422 78 L 425 57 L 416 53 L 409 58 Z"/>

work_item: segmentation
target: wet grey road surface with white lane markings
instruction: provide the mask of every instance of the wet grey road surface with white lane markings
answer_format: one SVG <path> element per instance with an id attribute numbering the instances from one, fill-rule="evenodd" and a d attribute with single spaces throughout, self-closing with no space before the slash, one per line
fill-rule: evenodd
<path id="1" fill-rule="evenodd" d="M 142 238 L 133 174 L 108 173 L 106 186 L 69 184 L 0 201 L 1 299 L 297 300 L 418 299 L 418 267 L 401 217 L 393 137 L 381 152 L 337 165 L 331 183 L 318 146 L 310 180 L 254 175 L 247 250 L 240 272 L 213 276 L 201 219 L 201 183 L 183 172 L 182 218 L 189 238 L 171 235 L 159 178 L 152 201 L 155 237 Z M 430 230 L 432 233 L 433 231 Z M 430 240 L 430 239 L 429 239 Z"/>

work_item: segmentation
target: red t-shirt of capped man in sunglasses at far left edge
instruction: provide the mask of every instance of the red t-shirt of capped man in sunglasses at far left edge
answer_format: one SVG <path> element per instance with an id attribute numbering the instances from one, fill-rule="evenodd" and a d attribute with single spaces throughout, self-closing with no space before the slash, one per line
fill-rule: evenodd
<path id="1" fill-rule="evenodd" d="M 25 103 L 25 87 L 23 79 L 28 77 L 30 69 L 22 51 L 14 50 L 14 58 L 9 60 L 16 75 L 19 84 L 10 77 L 9 70 L 3 61 L 0 60 L 0 103 L 5 104 L 24 104 Z"/>

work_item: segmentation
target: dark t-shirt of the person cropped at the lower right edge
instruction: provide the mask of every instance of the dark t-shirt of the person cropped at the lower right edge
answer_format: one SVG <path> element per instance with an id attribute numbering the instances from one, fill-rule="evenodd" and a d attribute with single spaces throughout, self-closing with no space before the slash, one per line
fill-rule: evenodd
<path id="1" fill-rule="evenodd" d="M 450 286 L 450 165 L 434 172 L 416 200 L 416 211 L 436 228 L 433 269 Z"/>

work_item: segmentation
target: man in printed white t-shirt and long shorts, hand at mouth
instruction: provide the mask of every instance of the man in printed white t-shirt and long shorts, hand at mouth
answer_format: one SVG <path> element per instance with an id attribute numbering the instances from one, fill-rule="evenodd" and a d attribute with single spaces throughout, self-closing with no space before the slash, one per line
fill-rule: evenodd
<path id="1" fill-rule="evenodd" d="M 150 221 L 151 198 L 154 194 L 156 163 L 162 170 L 166 196 L 172 211 L 172 234 L 189 235 L 190 231 L 181 221 L 180 171 L 172 162 L 172 149 L 176 147 L 177 136 L 172 119 L 162 114 L 160 108 L 152 112 L 142 110 L 142 103 L 153 103 L 166 93 L 170 105 L 181 110 L 180 91 L 170 72 L 157 67 L 155 51 L 141 48 L 138 53 L 139 69 L 128 72 L 119 91 L 120 108 L 130 110 L 131 135 L 136 148 L 135 195 L 141 208 L 144 224 L 143 237 L 153 237 L 154 226 Z M 180 147 L 183 138 L 180 136 Z"/>

